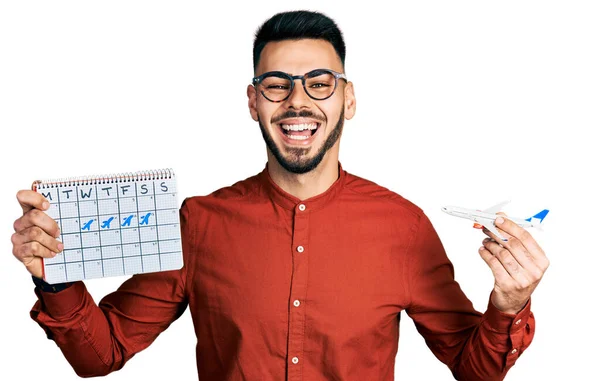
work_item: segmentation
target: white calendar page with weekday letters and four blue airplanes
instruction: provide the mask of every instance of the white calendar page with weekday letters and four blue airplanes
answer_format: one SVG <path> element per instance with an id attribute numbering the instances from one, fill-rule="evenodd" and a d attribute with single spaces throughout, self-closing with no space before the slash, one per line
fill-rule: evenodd
<path id="1" fill-rule="evenodd" d="M 103 183 L 105 182 L 105 183 Z M 68 184 L 68 185 L 67 185 Z M 61 283 L 183 266 L 175 178 L 66 183 L 37 188 L 64 249 L 44 259 L 46 282 Z"/>

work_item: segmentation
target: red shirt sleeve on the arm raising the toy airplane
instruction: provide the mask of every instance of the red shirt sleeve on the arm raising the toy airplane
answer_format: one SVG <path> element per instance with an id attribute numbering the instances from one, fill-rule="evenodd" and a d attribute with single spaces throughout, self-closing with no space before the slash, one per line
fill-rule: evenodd
<path id="1" fill-rule="evenodd" d="M 456 379 L 504 379 L 533 339 L 531 300 L 518 314 L 499 311 L 491 299 L 484 314 L 477 312 L 454 280 L 452 263 L 425 215 L 415 230 L 405 266 L 407 314 Z"/>

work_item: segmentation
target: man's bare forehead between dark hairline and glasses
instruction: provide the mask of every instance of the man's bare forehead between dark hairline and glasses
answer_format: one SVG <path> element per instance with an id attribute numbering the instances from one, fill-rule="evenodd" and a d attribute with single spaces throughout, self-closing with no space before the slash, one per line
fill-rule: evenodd
<path id="1" fill-rule="evenodd" d="M 279 70 L 299 75 L 321 68 L 344 71 L 331 43 L 316 39 L 285 40 L 265 45 L 256 74 Z"/>

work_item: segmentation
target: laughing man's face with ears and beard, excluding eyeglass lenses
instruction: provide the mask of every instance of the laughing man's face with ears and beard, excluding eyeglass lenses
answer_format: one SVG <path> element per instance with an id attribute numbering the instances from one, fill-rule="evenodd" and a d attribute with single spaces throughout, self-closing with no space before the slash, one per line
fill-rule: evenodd
<path id="1" fill-rule="evenodd" d="M 278 41 L 265 46 L 255 74 L 282 71 L 303 75 L 314 69 L 343 72 L 342 63 L 329 42 L 314 39 Z M 335 93 L 325 100 L 310 98 L 301 80 L 295 81 L 294 90 L 282 102 L 269 101 L 253 86 L 248 86 L 247 93 L 252 118 L 259 123 L 269 151 L 285 170 L 309 172 L 331 148 L 337 157 L 344 118 L 350 119 L 354 115 L 351 83 L 338 80 Z M 308 129 L 295 131 L 306 127 Z"/>

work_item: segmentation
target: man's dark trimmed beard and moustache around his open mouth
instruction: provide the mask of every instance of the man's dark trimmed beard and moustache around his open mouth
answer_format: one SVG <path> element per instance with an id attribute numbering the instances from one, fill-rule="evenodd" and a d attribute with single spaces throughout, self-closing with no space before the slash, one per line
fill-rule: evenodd
<path id="1" fill-rule="evenodd" d="M 300 111 L 300 112 L 296 113 L 291 110 L 286 111 L 285 114 L 282 115 L 281 117 L 279 117 L 278 119 L 281 120 L 282 118 L 294 118 L 294 117 L 311 117 L 311 118 L 315 118 L 318 120 L 324 119 L 323 117 L 318 117 L 317 115 L 313 114 L 310 111 Z M 260 115 L 258 116 L 258 125 L 260 126 L 260 132 L 262 133 L 263 139 L 265 140 L 265 143 L 267 144 L 269 151 L 271 151 L 273 156 L 275 156 L 275 159 L 277 159 L 277 162 L 286 171 L 291 172 L 291 173 L 296 173 L 296 174 L 307 173 L 307 172 L 310 172 L 313 169 L 315 169 L 319 165 L 319 163 L 321 163 L 321 161 L 323 160 L 323 157 L 325 156 L 327 151 L 329 151 L 329 149 L 331 147 L 333 147 L 335 145 L 335 143 L 338 141 L 338 139 L 340 138 L 340 135 L 342 134 L 342 129 L 344 127 L 344 107 L 342 106 L 342 110 L 340 111 L 340 117 L 339 117 L 337 123 L 335 124 L 335 127 L 329 133 L 329 135 L 327 136 L 327 139 L 325 139 L 325 143 L 323 143 L 323 145 L 321 146 L 321 148 L 319 149 L 317 154 L 314 155 L 313 157 L 307 156 L 308 152 L 311 150 L 310 147 L 309 148 L 286 147 L 285 150 L 286 150 L 286 152 L 289 153 L 289 156 L 284 156 L 281 153 L 281 150 L 275 144 L 275 141 L 273 140 L 271 135 L 269 135 L 269 133 L 267 132 L 265 126 L 263 125 L 263 123 L 260 119 Z M 272 124 L 272 125 L 275 126 L 276 128 L 280 128 L 276 124 Z M 319 128 L 322 128 L 322 127 L 323 127 L 323 123 L 321 123 L 321 126 Z"/>

